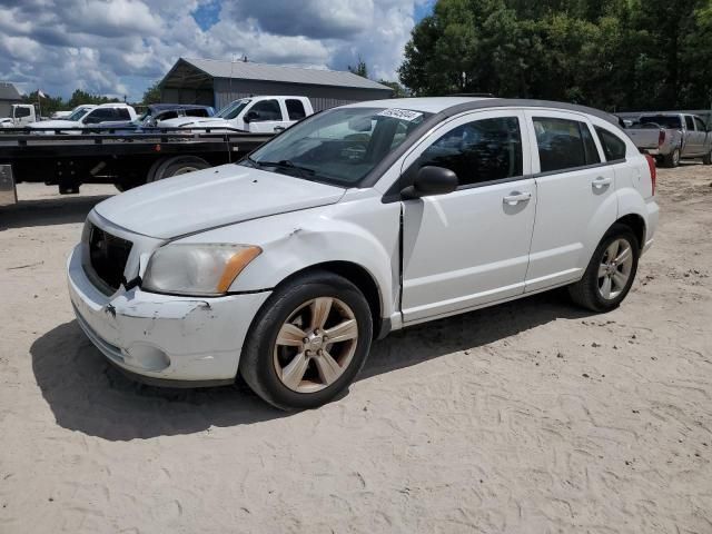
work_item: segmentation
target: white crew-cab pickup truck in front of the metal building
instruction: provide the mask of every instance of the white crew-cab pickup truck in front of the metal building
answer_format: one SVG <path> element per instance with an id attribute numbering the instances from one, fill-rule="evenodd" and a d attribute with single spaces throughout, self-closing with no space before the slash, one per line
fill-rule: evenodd
<path id="1" fill-rule="evenodd" d="M 314 115 L 307 97 L 249 97 L 230 102 L 215 117 L 161 120 L 160 128 L 233 128 L 253 134 L 275 134 Z"/>

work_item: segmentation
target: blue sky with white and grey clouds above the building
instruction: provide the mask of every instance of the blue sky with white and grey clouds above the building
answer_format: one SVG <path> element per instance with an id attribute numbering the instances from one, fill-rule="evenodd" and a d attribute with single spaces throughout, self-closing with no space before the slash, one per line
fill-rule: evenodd
<path id="1" fill-rule="evenodd" d="M 179 57 L 345 70 L 396 80 L 435 0 L 0 0 L 0 81 L 129 101 Z"/>

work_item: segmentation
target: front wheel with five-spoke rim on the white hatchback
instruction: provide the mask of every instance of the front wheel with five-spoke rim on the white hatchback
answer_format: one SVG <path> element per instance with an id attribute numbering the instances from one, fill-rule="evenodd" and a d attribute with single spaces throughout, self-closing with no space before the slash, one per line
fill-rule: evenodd
<path id="1" fill-rule="evenodd" d="M 324 316 L 314 312 L 326 310 L 326 299 L 330 306 L 324 329 L 312 330 L 315 319 L 318 326 L 318 317 Z M 337 343 L 320 337 L 337 325 L 344 336 L 353 336 L 353 320 L 357 337 Z M 277 408 L 316 408 L 348 388 L 366 362 L 372 337 L 370 308 L 358 288 L 327 271 L 308 273 L 278 287 L 255 316 L 239 373 L 257 395 Z M 287 344 L 277 343 L 278 338 Z"/>

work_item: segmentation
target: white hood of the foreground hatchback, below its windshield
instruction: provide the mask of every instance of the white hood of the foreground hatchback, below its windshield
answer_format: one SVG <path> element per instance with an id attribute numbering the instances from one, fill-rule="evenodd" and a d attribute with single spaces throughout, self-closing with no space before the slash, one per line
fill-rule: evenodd
<path id="1" fill-rule="evenodd" d="M 345 189 L 234 164 L 131 189 L 95 210 L 127 230 L 171 239 L 337 202 Z"/>

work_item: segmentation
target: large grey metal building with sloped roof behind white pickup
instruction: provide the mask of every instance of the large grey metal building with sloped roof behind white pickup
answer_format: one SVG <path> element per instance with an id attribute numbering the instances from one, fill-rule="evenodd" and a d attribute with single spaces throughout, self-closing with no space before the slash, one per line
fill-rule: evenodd
<path id="1" fill-rule="evenodd" d="M 216 109 L 249 96 L 303 96 L 315 111 L 393 95 L 389 87 L 348 71 L 190 58 L 178 59 L 160 81 L 160 90 L 162 102 Z"/>

